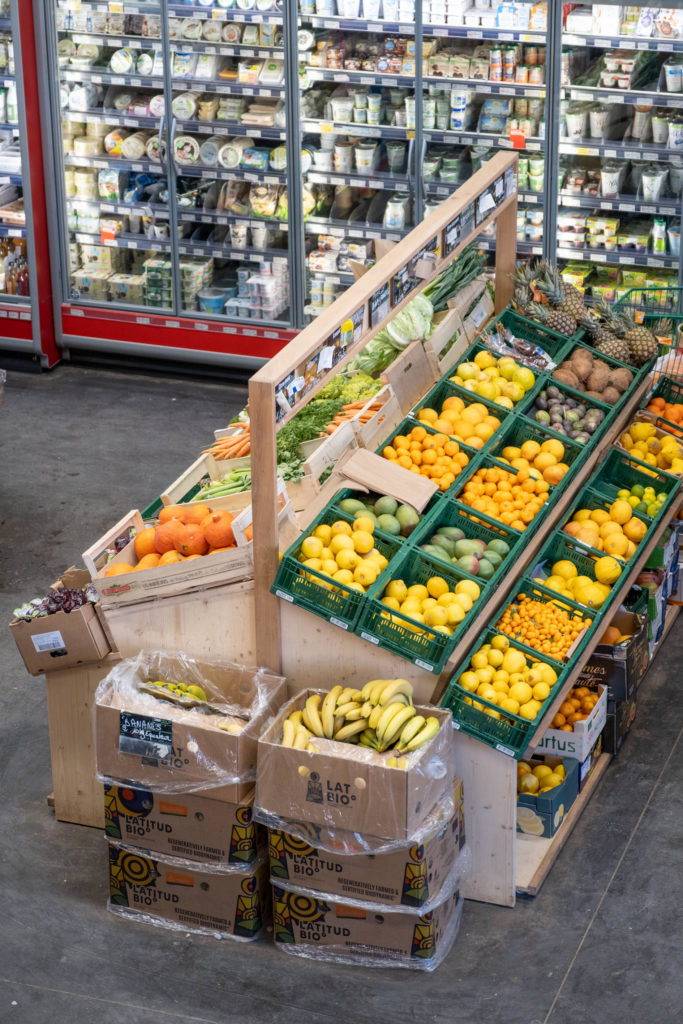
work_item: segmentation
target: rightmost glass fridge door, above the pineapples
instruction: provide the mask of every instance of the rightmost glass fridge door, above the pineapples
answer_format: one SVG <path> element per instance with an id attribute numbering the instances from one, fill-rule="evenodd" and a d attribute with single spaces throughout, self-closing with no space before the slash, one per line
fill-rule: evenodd
<path id="1" fill-rule="evenodd" d="M 683 9 L 589 5 L 562 36 L 557 257 L 589 297 L 680 281 Z M 672 295 L 675 293 L 672 293 Z"/>

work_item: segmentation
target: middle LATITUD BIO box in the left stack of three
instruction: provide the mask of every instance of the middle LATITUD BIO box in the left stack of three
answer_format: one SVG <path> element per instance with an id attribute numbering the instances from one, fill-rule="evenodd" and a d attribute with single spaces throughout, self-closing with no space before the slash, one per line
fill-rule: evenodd
<path id="1" fill-rule="evenodd" d="M 111 784 L 104 786 L 104 833 L 162 856 L 246 867 L 258 856 L 253 805 L 253 792 L 240 804 L 226 804 L 204 794 Z"/>

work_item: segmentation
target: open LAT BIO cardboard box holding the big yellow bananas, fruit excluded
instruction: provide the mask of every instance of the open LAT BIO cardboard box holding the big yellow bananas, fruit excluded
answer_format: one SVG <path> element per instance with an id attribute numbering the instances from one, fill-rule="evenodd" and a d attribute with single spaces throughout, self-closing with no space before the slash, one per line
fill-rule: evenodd
<path id="1" fill-rule="evenodd" d="M 284 720 L 302 709 L 314 692 L 304 690 L 293 697 L 259 739 L 257 820 L 274 826 L 275 816 L 278 826 L 286 829 L 288 821 L 308 821 L 331 829 L 409 840 L 446 796 L 449 780 L 456 776 L 451 712 L 416 708 L 425 718 L 438 718 L 441 727 L 402 770 L 386 767 L 380 755 L 353 743 L 316 739 L 317 752 L 283 746 Z"/>

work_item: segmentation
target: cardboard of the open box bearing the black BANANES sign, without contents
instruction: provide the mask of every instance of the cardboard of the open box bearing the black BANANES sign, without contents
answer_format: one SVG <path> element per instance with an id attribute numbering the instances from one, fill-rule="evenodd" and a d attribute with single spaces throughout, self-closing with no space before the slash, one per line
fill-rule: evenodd
<path id="1" fill-rule="evenodd" d="M 172 655 L 167 657 L 173 663 Z M 227 663 L 194 664 L 227 701 L 249 707 L 255 699 L 253 670 L 229 667 Z M 153 662 L 151 673 L 152 670 L 158 670 L 153 678 L 164 678 L 163 666 Z M 118 671 L 115 669 L 114 673 Z M 141 671 L 140 668 L 138 672 Z M 259 733 L 287 694 L 282 676 L 261 671 L 259 679 L 263 686 L 260 712 L 242 732 L 232 734 L 212 725 L 213 716 L 197 715 L 188 723 L 183 712 L 185 720 L 174 721 L 175 709 L 165 702 L 160 702 L 158 716 L 140 714 L 135 707 L 120 707 L 121 697 L 111 673 L 102 680 L 95 701 L 97 772 L 105 778 L 125 779 L 140 788 L 167 793 L 209 788 L 212 800 L 226 803 L 243 800 L 253 788 Z M 242 781 L 216 786 L 217 775 Z"/>

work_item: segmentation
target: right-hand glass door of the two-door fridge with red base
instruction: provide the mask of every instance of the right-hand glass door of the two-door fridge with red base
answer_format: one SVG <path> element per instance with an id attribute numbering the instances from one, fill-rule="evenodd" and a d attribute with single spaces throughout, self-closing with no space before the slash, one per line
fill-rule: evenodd
<path id="1" fill-rule="evenodd" d="M 178 312 L 288 327 L 282 11 L 243 0 L 170 3 L 169 13 Z"/>

